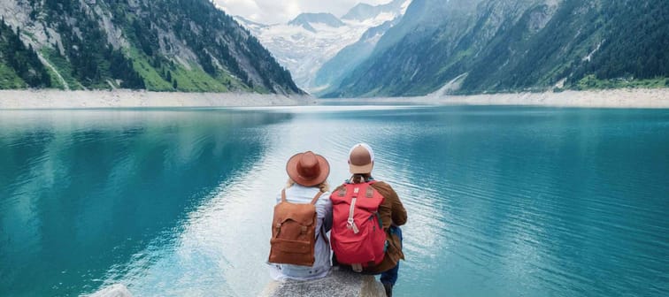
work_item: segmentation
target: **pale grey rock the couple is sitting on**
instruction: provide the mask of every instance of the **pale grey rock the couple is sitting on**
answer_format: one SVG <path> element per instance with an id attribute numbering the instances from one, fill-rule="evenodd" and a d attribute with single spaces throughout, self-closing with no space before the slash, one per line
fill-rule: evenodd
<path id="1" fill-rule="evenodd" d="M 260 293 L 261 297 L 385 297 L 381 282 L 369 275 L 334 267 L 326 278 L 313 280 L 273 281 Z"/>

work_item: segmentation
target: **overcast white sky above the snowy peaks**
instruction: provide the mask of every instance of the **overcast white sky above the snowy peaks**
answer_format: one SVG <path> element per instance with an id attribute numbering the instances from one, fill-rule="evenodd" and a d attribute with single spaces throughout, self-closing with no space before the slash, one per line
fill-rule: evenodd
<path id="1" fill-rule="evenodd" d="M 387 4 L 391 0 L 214 0 L 230 15 L 239 15 L 263 24 L 285 23 L 302 12 L 330 12 L 341 17 L 353 6 Z"/>

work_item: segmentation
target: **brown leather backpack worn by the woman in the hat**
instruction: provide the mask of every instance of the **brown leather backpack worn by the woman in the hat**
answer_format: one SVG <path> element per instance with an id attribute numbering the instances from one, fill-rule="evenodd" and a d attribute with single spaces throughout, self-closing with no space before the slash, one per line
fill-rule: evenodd
<path id="1" fill-rule="evenodd" d="M 274 206 L 269 263 L 312 266 L 316 245 L 316 194 L 310 203 L 291 203 L 286 200 L 286 189 L 281 191 L 281 202 Z M 325 234 L 321 230 L 325 239 Z M 326 240 L 327 241 L 327 240 Z"/>

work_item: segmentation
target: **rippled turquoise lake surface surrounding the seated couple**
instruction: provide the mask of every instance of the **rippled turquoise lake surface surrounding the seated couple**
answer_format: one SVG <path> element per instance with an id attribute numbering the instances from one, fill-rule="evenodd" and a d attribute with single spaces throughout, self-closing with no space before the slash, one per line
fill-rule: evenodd
<path id="1" fill-rule="evenodd" d="M 359 141 L 396 296 L 669 296 L 669 110 L 485 106 L 0 111 L 0 295 L 256 295 L 288 157 Z"/>

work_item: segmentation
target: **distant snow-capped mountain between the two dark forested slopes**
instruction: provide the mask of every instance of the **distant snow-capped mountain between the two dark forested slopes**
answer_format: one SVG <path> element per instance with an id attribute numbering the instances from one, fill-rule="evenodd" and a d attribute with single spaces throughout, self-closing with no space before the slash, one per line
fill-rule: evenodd
<path id="1" fill-rule="evenodd" d="M 315 82 L 316 73 L 342 49 L 358 42 L 367 30 L 401 18 L 411 0 L 393 0 L 372 6 L 358 4 L 338 19 L 330 13 L 303 13 L 286 24 L 265 25 L 242 17 L 237 21 L 250 30 L 292 73 L 297 86 L 314 93 L 328 87 Z"/>

